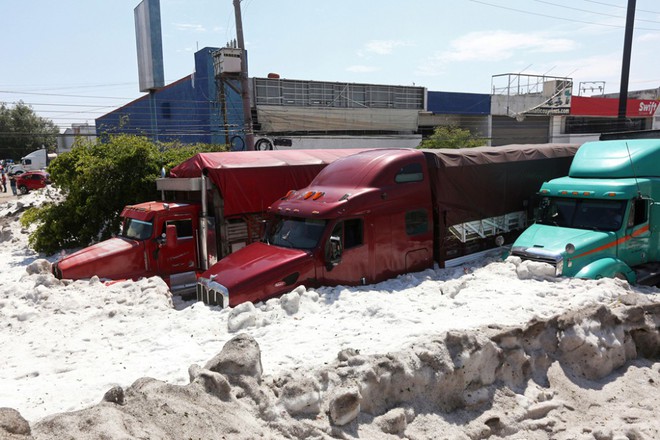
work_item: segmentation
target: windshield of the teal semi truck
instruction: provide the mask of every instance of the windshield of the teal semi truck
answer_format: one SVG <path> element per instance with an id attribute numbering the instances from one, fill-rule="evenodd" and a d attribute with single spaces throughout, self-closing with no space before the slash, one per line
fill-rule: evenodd
<path id="1" fill-rule="evenodd" d="M 544 197 L 537 223 L 575 229 L 618 231 L 625 200 L 591 200 Z"/>

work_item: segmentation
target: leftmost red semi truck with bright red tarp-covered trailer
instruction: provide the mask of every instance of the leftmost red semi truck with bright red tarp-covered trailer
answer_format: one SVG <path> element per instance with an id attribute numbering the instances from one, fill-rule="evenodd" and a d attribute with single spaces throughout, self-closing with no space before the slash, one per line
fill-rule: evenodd
<path id="1" fill-rule="evenodd" d="M 110 280 L 158 275 L 175 294 L 194 294 L 197 276 L 261 238 L 273 200 L 301 188 L 356 149 L 200 153 L 156 181 L 162 201 L 126 206 L 120 234 L 53 264 L 58 278 Z"/>

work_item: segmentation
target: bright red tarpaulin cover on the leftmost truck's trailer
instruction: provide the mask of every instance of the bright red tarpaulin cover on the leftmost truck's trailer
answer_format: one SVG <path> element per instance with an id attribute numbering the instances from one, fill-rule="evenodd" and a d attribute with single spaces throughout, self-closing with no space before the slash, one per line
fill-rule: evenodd
<path id="1" fill-rule="evenodd" d="M 224 213 L 265 211 L 291 189 L 306 187 L 326 165 L 362 149 L 199 153 L 170 170 L 171 177 L 200 177 L 219 188 Z"/>

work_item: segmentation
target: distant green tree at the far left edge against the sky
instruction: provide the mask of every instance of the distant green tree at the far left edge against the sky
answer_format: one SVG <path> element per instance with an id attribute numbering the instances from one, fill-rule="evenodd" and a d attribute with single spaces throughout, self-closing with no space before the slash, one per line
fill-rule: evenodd
<path id="1" fill-rule="evenodd" d="M 58 134 L 52 121 L 37 116 L 22 101 L 13 107 L 0 103 L 0 159 L 18 161 L 42 147 L 54 152 Z"/>

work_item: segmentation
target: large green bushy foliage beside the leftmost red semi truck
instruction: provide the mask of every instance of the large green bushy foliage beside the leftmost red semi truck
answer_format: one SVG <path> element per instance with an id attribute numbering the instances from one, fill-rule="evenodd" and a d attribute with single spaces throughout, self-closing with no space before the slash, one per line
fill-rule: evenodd
<path id="1" fill-rule="evenodd" d="M 158 199 L 155 180 L 198 152 L 221 151 L 205 144 L 154 144 L 145 137 L 112 136 L 107 142 L 77 140 L 48 166 L 63 201 L 30 213 L 37 222 L 30 245 L 39 252 L 87 246 L 118 232 L 125 205 Z"/>

